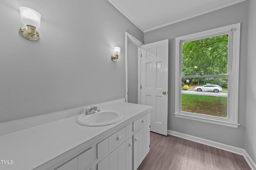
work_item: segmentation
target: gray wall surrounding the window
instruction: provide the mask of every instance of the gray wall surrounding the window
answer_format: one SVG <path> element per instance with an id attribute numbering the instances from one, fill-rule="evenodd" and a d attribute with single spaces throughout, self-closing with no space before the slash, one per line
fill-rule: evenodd
<path id="1" fill-rule="evenodd" d="M 229 6 L 208 14 L 191 18 L 179 23 L 174 23 L 153 31 L 144 33 L 144 43 L 152 43 L 163 39 L 169 39 L 169 77 L 168 77 L 168 129 L 196 137 L 244 148 L 245 131 L 245 98 L 246 98 L 246 43 L 247 43 L 247 18 L 248 1 Z M 239 82 L 239 106 L 238 123 L 236 128 L 214 125 L 199 121 L 174 117 L 174 93 L 175 93 L 175 37 L 197 33 L 208 29 L 222 27 L 241 22 L 240 41 L 240 82 Z"/>

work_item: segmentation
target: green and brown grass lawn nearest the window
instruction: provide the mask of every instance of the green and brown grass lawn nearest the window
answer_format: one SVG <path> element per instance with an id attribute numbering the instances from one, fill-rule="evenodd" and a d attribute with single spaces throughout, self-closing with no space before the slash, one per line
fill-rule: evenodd
<path id="1" fill-rule="evenodd" d="M 218 117 L 227 117 L 228 98 L 181 94 L 181 110 Z"/>

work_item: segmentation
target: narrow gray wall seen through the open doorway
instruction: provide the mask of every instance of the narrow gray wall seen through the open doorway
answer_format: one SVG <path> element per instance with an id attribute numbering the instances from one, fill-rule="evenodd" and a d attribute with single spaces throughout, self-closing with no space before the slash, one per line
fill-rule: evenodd
<path id="1" fill-rule="evenodd" d="M 128 41 L 128 103 L 138 104 L 138 47 Z"/>

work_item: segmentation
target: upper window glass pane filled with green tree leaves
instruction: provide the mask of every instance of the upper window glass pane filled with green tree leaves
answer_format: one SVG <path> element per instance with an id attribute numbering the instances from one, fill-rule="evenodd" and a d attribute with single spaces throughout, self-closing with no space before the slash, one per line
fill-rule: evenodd
<path id="1" fill-rule="evenodd" d="M 182 76 L 228 74 L 228 34 L 182 43 Z"/>

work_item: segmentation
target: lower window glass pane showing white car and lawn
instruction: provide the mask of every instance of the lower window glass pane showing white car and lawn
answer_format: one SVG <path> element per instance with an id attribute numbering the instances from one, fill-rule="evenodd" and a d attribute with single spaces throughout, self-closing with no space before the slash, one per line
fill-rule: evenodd
<path id="1" fill-rule="evenodd" d="M 181 81 L 181 111 L 227 117 L 228 77 L 182 78 Z"/>

